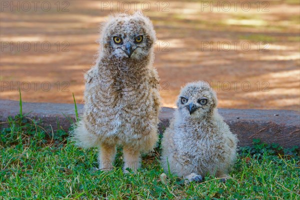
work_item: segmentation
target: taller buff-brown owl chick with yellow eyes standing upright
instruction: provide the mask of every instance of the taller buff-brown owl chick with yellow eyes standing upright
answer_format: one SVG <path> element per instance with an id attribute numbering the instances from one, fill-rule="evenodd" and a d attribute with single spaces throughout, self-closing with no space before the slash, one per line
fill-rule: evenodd
<path id="1" fill-rule="evenodd" d="M 104 24 L 96 64 L 84 76 L 84 111 L 73 131 L 82 147 L 98 147 L 102 170 L 112 168 L 116 145 L 125 169 L 140 167 L 140 152 L 153 149 L 160 109 L 153 68 L 156 36 L 141 12 L 110 16 Z"/>

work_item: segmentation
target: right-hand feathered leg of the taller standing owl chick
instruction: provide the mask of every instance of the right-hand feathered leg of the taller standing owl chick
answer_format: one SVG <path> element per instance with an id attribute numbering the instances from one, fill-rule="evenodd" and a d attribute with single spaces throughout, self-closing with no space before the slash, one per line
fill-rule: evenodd
<path id="1" fill-rule="evenodd" d="M 140 151 L 132 147 L 124 146 L 123 148 L 123 171 L 128 172 L 126 168 L 136 171 L 140 167 Z"/>

